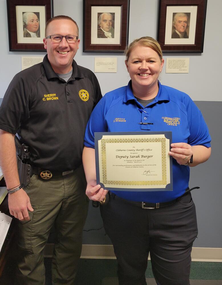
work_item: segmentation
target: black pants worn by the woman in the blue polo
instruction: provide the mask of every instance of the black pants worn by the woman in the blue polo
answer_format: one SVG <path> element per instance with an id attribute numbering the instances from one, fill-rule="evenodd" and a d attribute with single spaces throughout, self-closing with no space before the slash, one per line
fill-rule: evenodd
<path id="1" fill-rule="evenodd" d="M 117 257 L 119 285 L 146 284 L 149 253 L 158 285 L 190 284 L 190 254 L 198 233 L 190 192 L 159 209 L 142 209 L 111 196 L 100 211 Z"/>

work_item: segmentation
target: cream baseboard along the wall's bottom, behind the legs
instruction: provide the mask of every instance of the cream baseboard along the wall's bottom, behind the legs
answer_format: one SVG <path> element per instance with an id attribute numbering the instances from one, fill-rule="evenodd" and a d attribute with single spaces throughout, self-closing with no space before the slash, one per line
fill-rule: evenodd
<path id="1" fill-rule="evenodd" d="M 53 243 L 47 243 L 44 256 L 52 257 L 53 248 Z M 115 259 L 116 257 L 112 245 L 83 245 L 81 258 Z M 193 247 L 191 258 L 192 261 L 222 262 L 222 248 Z"/>

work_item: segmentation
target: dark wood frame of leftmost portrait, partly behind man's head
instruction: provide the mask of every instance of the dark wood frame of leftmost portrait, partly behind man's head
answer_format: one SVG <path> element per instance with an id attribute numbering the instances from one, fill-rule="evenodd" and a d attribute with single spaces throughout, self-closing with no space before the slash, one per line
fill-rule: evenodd
<path id="1" fill-rule="evenodd" d="M 45 6 L 45 22 L 47 22 L 53 17 L 53 0 L 7 0 L 9 51 L 46 51 L 43 42 L 18 43 L 16 6 Z"/>

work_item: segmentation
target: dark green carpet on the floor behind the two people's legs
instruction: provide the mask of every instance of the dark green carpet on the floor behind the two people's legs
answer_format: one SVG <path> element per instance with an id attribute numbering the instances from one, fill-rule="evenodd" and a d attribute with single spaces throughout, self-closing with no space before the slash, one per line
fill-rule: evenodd
<path id="1" fill-rule="evenodd" d="M 45 258 L 46 285 L 52 285 L 51 263 L 52 258 Z M 15 264 L 13 263 L 5 267 L 3 275 L 0 278 L 1 285 L 13 284 L 14 269 Z M 115 259 L 81 258 L 75 285 L 115 285 L 118 284 L 116 277 L 117 261 Z M 153 274 L 150 261 L 148 261 L 146 278 L 150 278 L 147 281 L 149 285 L 155 284 L 155 281 L 152 280 Z M 190 279 L 191 285 L 222 285 L 222 262 L 192 262 Z M 195 280 L 197 281 L 195 282 Z"/>

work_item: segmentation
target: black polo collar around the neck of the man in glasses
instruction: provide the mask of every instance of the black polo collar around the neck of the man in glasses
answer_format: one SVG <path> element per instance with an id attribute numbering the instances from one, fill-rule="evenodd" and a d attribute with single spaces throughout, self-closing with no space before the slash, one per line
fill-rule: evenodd
<path id="1" fill-rule="evenodd" d="M 48 55 L 46 54 L 43 58 L 43 66 L 46 73 L 46 78 L 49 80 L 51 78 L 59 78 L 58 75 L 54 72 L 50 62 L 48 61 Z M 75 60 L 72 62 L 72 78 L 83 78 L 83 74 L 80 71 Z"/>

